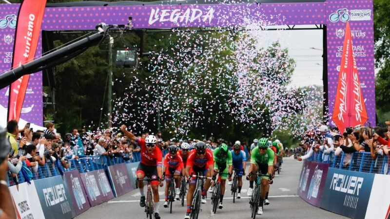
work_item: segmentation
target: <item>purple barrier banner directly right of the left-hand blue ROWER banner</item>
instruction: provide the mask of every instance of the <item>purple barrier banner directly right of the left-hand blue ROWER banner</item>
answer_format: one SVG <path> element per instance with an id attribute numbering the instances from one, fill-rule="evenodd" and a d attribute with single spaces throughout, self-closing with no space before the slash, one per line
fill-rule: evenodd
<path id="1" fill-rule="evenodd" d="M 82 184 L 78 170 L 65 172 L 64 180 L 66 181 L 70 189 L 70 194 L 72 197 L 73 207 L 75 208 L 76 215 L 79 215 L 84 211 L 88 210 L 91 205 L 89 204 L 87 194 L 85 193 L 85 189 Z"/>

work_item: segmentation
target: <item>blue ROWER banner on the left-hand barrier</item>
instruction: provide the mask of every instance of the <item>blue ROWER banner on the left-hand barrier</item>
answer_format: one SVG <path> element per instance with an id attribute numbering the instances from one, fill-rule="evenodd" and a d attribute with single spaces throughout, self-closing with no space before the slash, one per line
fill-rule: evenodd
<path id="1" fill-rule="evenodd" d="M 76 217 L 68 186 L 62 181 L 61 176 L 35 180 L 35 189 L 45 218 L 71 219 Z"/>

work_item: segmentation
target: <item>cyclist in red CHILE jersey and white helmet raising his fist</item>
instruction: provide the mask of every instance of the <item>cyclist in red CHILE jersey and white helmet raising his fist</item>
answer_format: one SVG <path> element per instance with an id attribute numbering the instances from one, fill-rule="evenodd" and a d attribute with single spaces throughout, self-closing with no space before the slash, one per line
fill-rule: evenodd
<path id="1" fill-rule="evenodd" d="M 120 130 L 132 141 L 141 146 L 141 162 L 137 167 L 137 178 L 143 180 L 146 175 L 152 179 L 162 179 L 162 151 L 156 146 L 157 139 L 154 135 L 148 135 L 145 140 L 137 138 L 133 133 L 127 130 L 125 125 L 120 127 Z M 160 195 L 158 194 L 158 184 L 160 187 L 164 185 L 163 181 L 152 181 L 153 200 L 155 201 L 155 219 L 160 219 L 159 206 Z M 145 207 L 145 194 L 143 190 L 143 181 L 138 181 L 139 193 L 141 200 L 139 205 Z"/>

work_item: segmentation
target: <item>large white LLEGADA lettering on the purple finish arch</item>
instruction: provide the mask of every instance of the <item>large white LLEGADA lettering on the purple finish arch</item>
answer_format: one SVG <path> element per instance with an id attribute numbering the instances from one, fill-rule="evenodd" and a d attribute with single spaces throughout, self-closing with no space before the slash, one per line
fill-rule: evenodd
<path id="1" fill-rule="evenodd" d="M 210 8 L 207 12 L 204 12 L 197 8 L 187 8 L 187 10 L 183 11 L 181 9 L 164 9 L 161 10 L 156 8 L 153 9 L 150 13 L 149 17 L 149 25 L 156 23 L 156 21 L 161 22 L 172 22 L 172 23 L 188 23 L 194 22 L 199 19 L 202 22 L 208 21 L 211 23 L 211 19 L 214 17 L 214 9 Z"/>

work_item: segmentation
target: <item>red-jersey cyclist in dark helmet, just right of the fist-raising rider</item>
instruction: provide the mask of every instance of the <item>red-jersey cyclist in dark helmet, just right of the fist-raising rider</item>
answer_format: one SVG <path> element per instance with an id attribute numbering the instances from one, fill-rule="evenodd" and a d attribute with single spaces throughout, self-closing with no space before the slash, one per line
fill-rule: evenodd
<path id="1" fill-rule="evenodd" d="M 183 176 L 184 173 L 184 164 L 180 155 L 177 153 L 178 148 L 174 145 L 168 147 L 169 153 L 167 153 L 164 157 L 164 169 L 163 169 L 163 177 L 166 175 L 175 175 L 173 178 L 176 183 L 175 194 L 180 195 L 180 175 Z M 165 177 L 167 184 L 165 185 L 165 202 L 164 208 L 168 207 L 168 192 L 169 186 L 171 185 L 172 176 Z"/>

